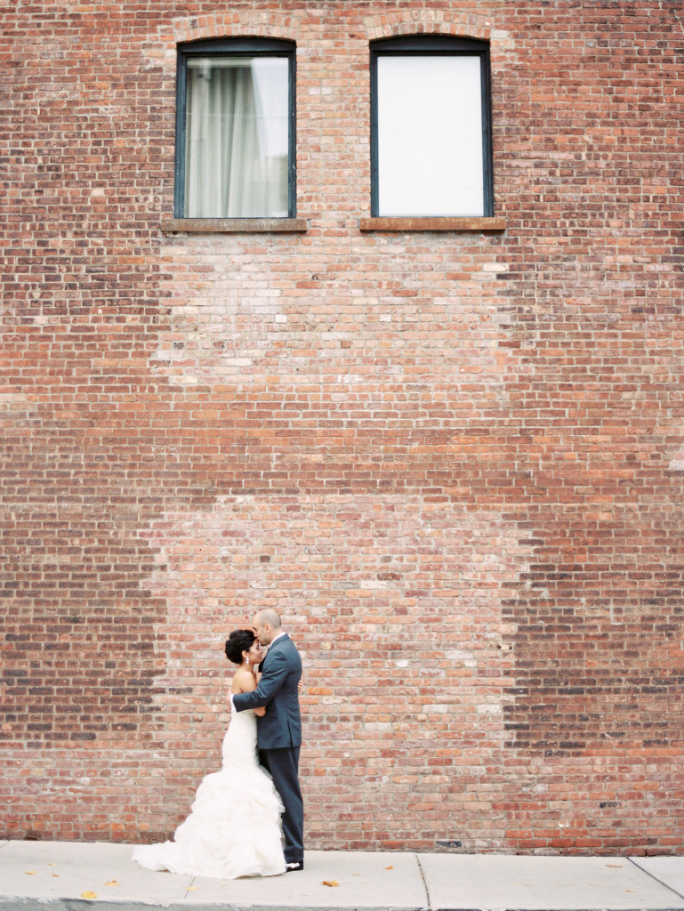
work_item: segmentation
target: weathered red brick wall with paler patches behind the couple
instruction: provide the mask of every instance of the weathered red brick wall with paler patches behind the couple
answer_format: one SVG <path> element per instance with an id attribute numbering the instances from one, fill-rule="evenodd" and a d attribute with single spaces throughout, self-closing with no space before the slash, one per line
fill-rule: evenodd
<path id="1" fill-rule="evenodd" d="M 505 230 L 359 230 L 368 43 L 490 41 Z M 301 234 L 165 233 L 175 47 L 297 43 Z M 151 840 L 222 643 L 305 664 L 307 844 L 684 847 L 678 4 L 5 12 L 2 837 Z"/>

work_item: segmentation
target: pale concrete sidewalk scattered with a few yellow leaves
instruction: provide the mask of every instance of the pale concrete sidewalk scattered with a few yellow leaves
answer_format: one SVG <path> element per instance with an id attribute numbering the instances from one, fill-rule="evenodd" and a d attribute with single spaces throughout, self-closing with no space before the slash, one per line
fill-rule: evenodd
<path id="1" fill-rule="evenodd" d="M 684 857 L 309 851 L 302 873 L 220 880 L 143 870 L 131 850 L 0 842 L 0 909 L 684 911 Z"/>

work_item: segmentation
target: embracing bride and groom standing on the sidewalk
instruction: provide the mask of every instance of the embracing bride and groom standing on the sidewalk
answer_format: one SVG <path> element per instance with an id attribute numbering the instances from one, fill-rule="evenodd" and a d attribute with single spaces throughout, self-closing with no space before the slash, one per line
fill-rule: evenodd
<path id="1" fill-rule="evenodd" d="M 134 850 L 141 866 L 227 879 L 304 869 L 301 658 L 277 611 L 260 610 L 253 624 L 226 642 L 237 669 L 223 767 L 200 783 L 173 841 Z"/>

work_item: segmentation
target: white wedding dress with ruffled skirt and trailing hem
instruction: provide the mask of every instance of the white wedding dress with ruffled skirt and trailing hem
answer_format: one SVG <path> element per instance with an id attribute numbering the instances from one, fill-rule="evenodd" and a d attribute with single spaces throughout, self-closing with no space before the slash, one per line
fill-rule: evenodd
<path id="1" fill-rule="evenodd" d="M 285 872 L 281 799 L 257 758 L 257 716 L 230 714 L 223 768 L 199 784 L 173 841 L 139 845 L 133 860 L 148 870 L 196 876 L 276 876 Z"/>

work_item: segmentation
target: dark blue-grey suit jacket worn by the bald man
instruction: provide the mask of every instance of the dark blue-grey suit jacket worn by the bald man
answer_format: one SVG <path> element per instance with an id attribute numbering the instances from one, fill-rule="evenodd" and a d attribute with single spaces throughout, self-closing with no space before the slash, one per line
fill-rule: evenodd
<path id="1" fill-rule="evenodd" d="M 301 677 L 301 658 L 290 637 L 271 644 L 261 661 L 261 679 L 256 690 L 233 696 L 236 711 L 266 706 L 257 718 L 257 743 L 260 750 L 301 746 L 300 700 L 297 684 Z"/>

